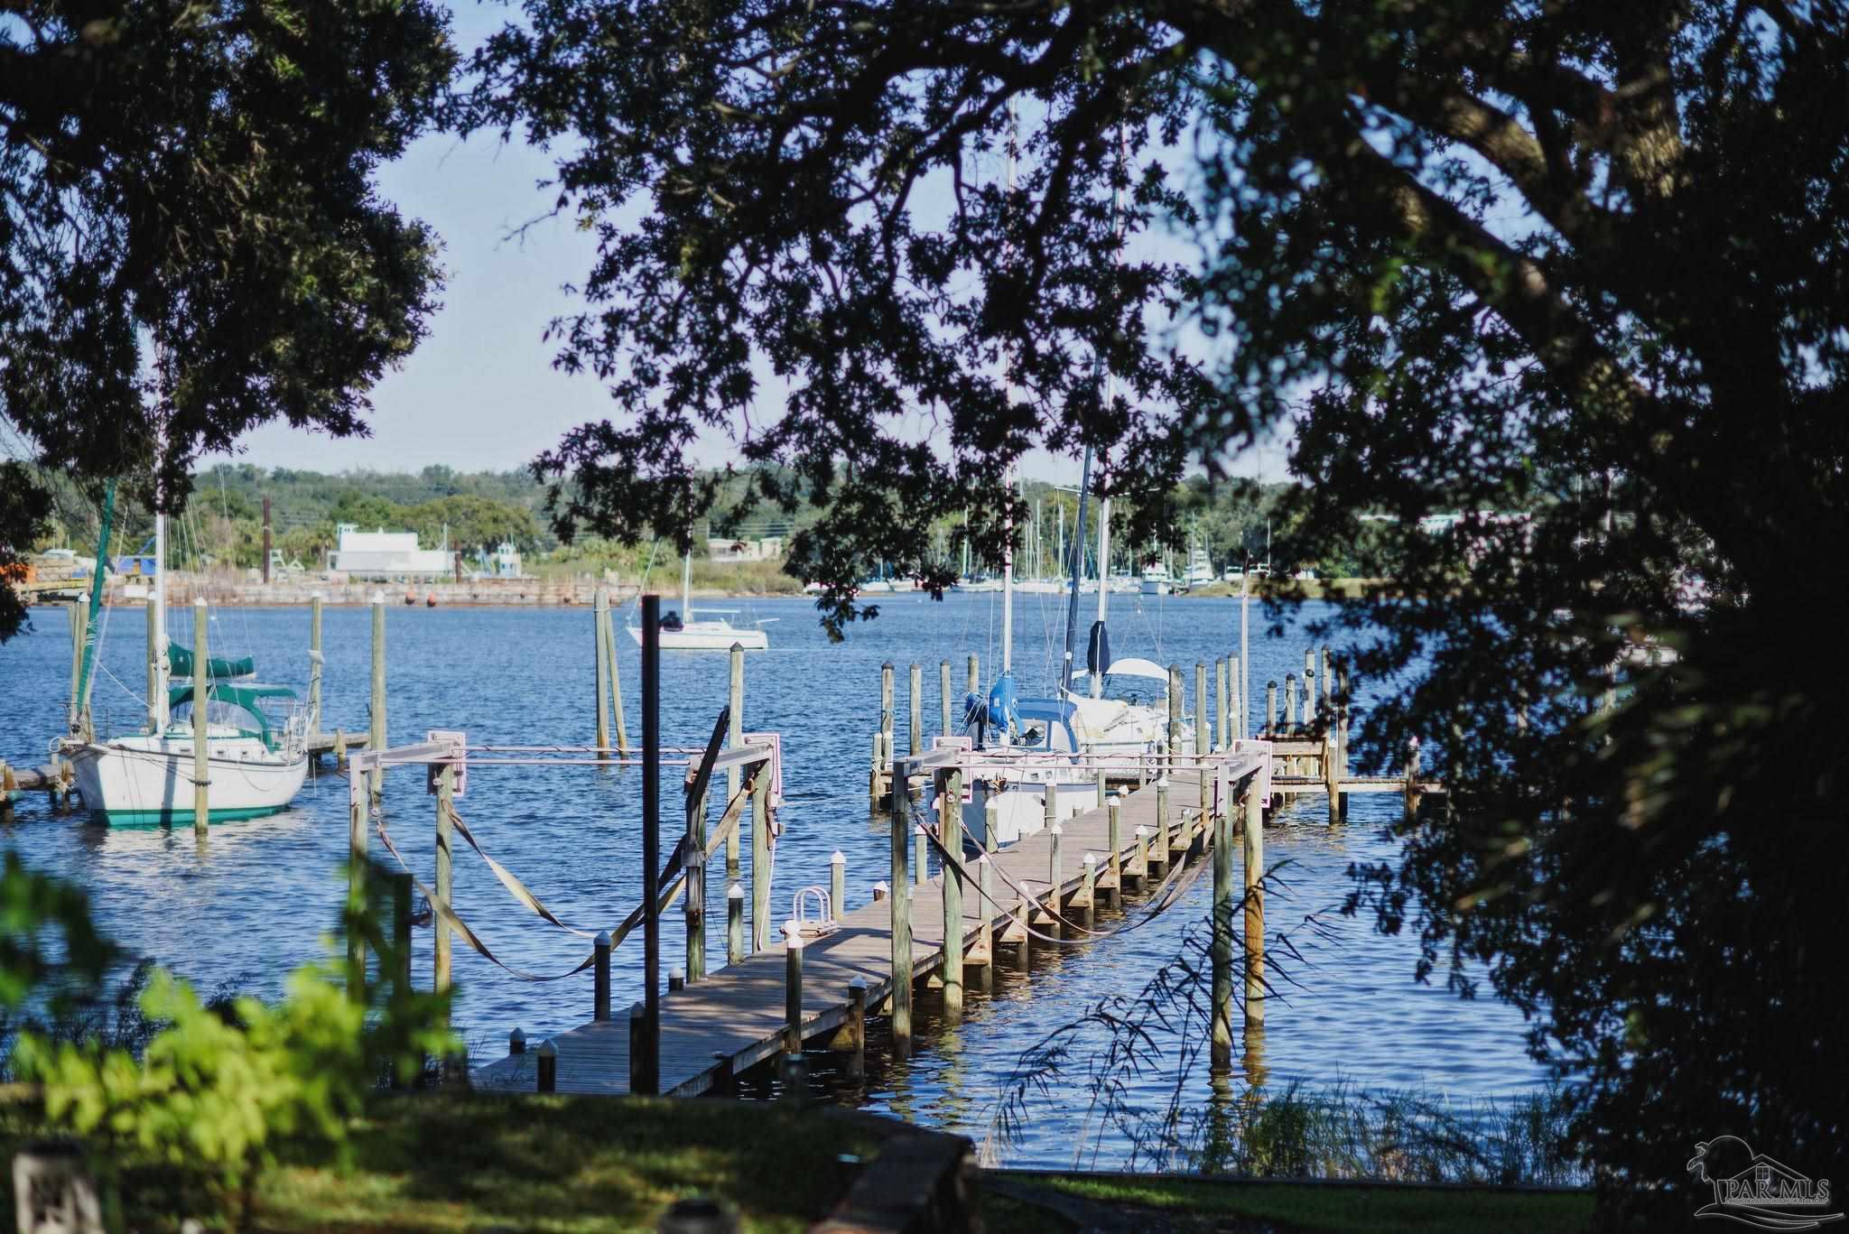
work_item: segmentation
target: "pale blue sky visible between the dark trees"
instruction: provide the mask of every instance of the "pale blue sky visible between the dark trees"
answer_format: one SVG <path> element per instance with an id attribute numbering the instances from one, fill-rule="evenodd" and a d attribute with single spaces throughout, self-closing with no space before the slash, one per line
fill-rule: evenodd
<path id="1" fill-rule="evenodd" d="M 475 46 L 505 20 L 503 6 L 460 6 L 457 43 Z M 429 339 L 373 390 L 372 438 L 333 440 L 287 426 L 246 435 L 240 461 L 320 472 L 418 470 L 442 463 L 459 470 L 523 466 L 584 420 L 608 414 L 610 401 L 592 376 L 553 370 L 545 324 L 569 307 L 566 283 L 584 278 L 594 239 L 568 218 L 544 218 L 518 237 L 516 228 L 551 207 L 538 181 L 547 155 L 492 135 L 471 141 L 425 137 L 383 168 L 381 192 L 423 218 L 444 239 L 449 285 Z M 767 392 L 775 398 L 775 394 Z M 923 424 L 908 426 L 923 435 Z M 701 442 L 703 464 L 734 457 L 730 442 Z M 1235 464 L 1241 474 L 1278 477 L 1281 450 Z M 1072 481 L 1078 463 L 1032 455 L 1024 472 Z"/>

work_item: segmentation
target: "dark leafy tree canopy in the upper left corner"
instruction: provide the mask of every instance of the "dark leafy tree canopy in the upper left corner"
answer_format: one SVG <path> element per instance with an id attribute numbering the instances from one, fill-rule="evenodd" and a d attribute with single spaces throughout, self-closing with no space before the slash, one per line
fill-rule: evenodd
<path id="1" fill-rule="evenodd" d="M 364 433 L 436 237 L 372 172 L 455 70 L 425 0 L 0 4 L 0 418 L 46 468 L 185 503 L 268 420 Z M 46 500 L 9 468 L 0 564 Z M 22 620 L 0 586 L 0 636 Z"/>

